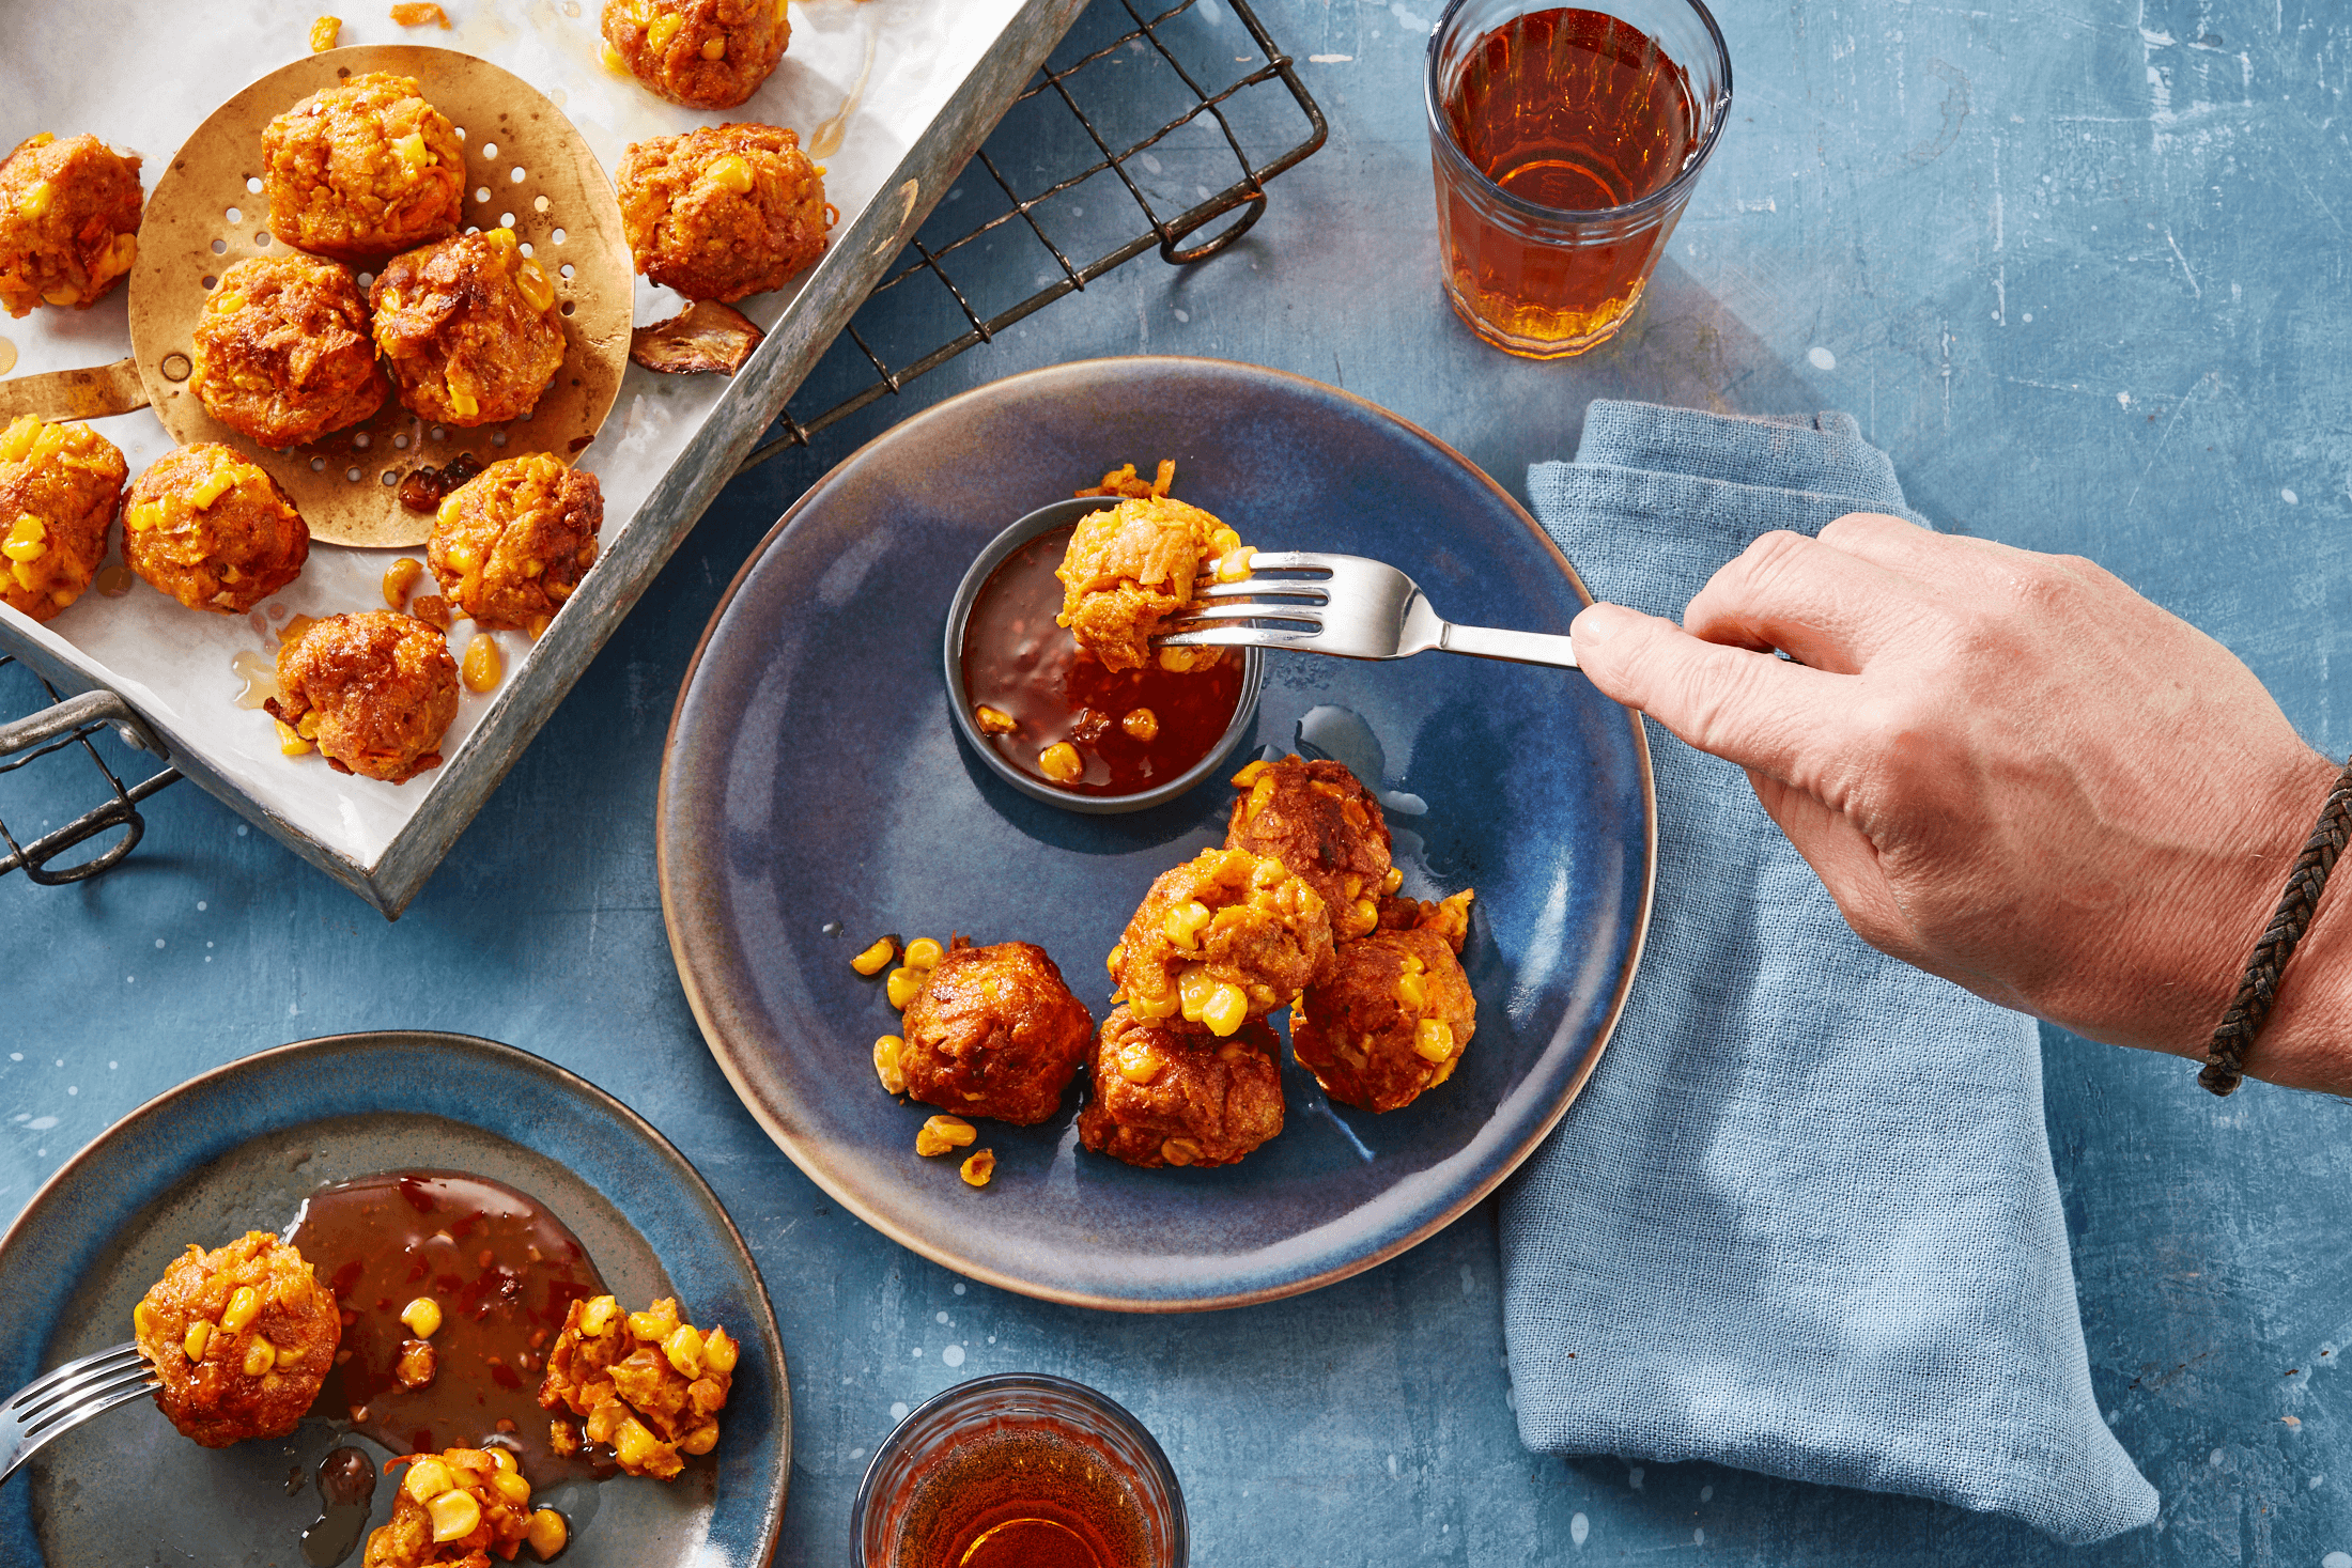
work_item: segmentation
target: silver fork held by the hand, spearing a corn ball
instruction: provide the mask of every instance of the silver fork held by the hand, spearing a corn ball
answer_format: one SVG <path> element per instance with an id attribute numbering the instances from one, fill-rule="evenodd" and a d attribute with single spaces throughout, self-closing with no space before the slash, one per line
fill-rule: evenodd
<path id="1" fill-rule="evenodd" d="M 1566 637 L 1454 625 L 1430 607 L 1414 578 L 1388 562 L 1362 555 L 1258 550 L 1249 569 L 1251 576 L 1240 583 L 1204 588 L 1202 597 L 1209 604 L 1152 642 L 1178 649 L 1301 649 L 1338 658 L 1411 658 L 1442 649 L 1522 665 L 1576 668 L 1576 646 Z M 1317 576 L 1270 578 L 1268 571 Z"/>

